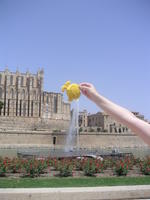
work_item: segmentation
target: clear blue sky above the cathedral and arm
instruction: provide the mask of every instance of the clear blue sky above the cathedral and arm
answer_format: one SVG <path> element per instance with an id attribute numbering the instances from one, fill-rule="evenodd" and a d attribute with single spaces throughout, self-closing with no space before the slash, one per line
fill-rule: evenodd
<path id="1" fill-rule="evenodd" d="M 47 91 L 92 82 L 150 119 L 150 1 L 0 0 L 0 70 L 6 65 L 43 67 Z M 84 108 L 99 110 L 82 96 Z"/>

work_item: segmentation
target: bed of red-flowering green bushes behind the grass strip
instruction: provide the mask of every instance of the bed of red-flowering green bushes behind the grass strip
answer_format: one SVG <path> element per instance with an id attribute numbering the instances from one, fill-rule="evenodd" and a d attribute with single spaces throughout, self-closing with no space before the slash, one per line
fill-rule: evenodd
<path id="1" fill-rule="evenodd" d="M 0 177 L 81 177 L 81 176 L 144 176 L 150 175 L 150 157 L 144 160 L 133 156 L 122 159 L 106 158 L 0 158 Z"/>

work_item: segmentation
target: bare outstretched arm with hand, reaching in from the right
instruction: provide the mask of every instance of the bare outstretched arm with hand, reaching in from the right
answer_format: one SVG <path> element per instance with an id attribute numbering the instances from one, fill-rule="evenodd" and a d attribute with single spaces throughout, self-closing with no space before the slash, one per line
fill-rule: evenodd
<path id="1" fill-rule="evenodd" d="M 101 107 L 107 114 L 111 115 L 118 122 L 126 125 L 141 137 L 145 143 L 150 145 L 150 124 L 137 118 L 129 110 L 100 95 L 90 83 L 80 83 L 80 90 L 82 94 L 96 103 L 97 106 Z"/>

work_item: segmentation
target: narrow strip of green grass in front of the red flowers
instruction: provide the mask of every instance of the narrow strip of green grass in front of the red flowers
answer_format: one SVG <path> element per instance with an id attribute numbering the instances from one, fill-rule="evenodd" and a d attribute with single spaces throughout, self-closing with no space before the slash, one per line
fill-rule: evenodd
<path id="1" fill-rule="evenodd" d="M 150 185 L 148 177 L 113 178 L 0 178 L 0 188 L 42 188 L 42 187 L 97 187 L 120 185 Z"/>

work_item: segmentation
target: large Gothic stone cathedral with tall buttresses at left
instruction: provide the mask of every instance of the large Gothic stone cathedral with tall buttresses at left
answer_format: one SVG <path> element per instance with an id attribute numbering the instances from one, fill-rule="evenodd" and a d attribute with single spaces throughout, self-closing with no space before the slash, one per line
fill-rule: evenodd
<path id="1" fill-rule="evenodd" d="M 44 72 L 0 71 L 0 115 L 20 118 L 70 120 L 70 104 L 61 93 L 43 89 Z"/>

